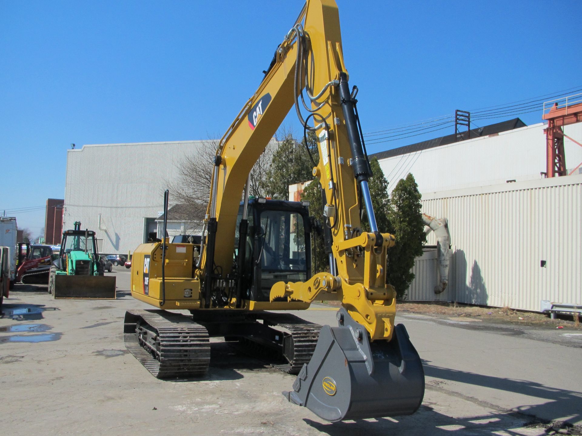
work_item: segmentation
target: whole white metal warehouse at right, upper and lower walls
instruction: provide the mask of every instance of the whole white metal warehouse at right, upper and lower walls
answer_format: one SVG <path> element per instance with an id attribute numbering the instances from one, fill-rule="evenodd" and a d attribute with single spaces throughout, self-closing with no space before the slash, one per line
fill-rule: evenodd
<path id="1" fill-rule="evenodd" d="M 582 168 L 542 176 L 545 127 L 514 119 L 470 140 L 449 135 L 372 155 L 390 191 L 412 173 L 423 213 L 448 219 L 448 289 L 435 293 L 437 252 L 428 249 L 416 260 L 407 299 L 523 310 L 540 310 L 542 300 L 582 303 Z M 563 130 L 582 142 L 582 123 Z M 582 147 L 567 137 L 564 146 L 570 173 L 582 162 Z"/>

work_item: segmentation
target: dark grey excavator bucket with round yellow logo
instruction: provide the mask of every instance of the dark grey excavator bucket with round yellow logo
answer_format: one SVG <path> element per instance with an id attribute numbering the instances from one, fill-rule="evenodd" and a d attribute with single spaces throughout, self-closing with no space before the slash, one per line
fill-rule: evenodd
<path id="1" fill-rule="evenodd" d="M 310 362 L 283 395 L 332 422 L 416 412 L 424 396 L 423 364 L 403 324 L 392 341 L 370 342 L 345 309 L 338 320 L 339 327 L 321 329 Z"/>

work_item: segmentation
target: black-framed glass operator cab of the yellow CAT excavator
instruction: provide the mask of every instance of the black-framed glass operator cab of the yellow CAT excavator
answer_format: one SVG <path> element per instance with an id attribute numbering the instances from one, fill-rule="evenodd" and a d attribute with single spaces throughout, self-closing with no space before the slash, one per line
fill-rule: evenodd
<path id="1" fill-rule="evenodd" d="M 239 256 L 241 203 L 236 219 L 235 265 Z M 306 281 L 311 277 L 311 228 L 307 205 L 301 202 L 250 199 L 249 230 L 244 248 L 243 298 L 269 301 L 278 281 Z"/>

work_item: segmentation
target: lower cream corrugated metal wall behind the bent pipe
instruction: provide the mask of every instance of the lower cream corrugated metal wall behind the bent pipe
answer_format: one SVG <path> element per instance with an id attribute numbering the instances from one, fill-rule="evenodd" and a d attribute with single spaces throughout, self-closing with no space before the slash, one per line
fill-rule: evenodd
<path id="1" fill-rule="evenodd" d="M 422 204 L 449 220 L 456 301 L 526 310 L 540 310 L 542 299 L 582 303 L 582 175 L 434 192 Z M 430 294 L 434 284 L 415 286 Z"/>

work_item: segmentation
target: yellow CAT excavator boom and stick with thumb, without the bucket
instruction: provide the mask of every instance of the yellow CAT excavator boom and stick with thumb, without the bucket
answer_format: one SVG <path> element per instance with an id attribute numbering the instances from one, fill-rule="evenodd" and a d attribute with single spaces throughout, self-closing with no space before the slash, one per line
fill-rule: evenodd
<path id="1" fill-rule="evenodd" d="M 271 300 L 286 296 L 289 301 L 311 302 L 325 293 L 326 299 L 342 302 L 372 341 L 391 339 L 396 293 L 385 284 L 385 265 L 386 249 L 395 238 L 379 233 L 375 224 L 367 185 L 370 170 L 347 77 L 335 2 L 308 1 L 279 45 L 274 65 L 219 142 L 199 274 L 210 288 L 209 279 L 217 268 L 230 271 L 229 247 L 235 239 L 239 199 L 247 176 L 293 105 L 305 124 L 299 112 L 305 90 L 315 123 L 306 128 L 315 130 L 319 140 L 320 159 L 313 172 L 325 190 L 333 278 L 319 273 L 304 283 L 278 283 Z M 361 230 L 360 195 L 372 230 L 369 233 Z"/>

